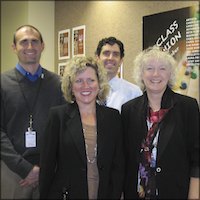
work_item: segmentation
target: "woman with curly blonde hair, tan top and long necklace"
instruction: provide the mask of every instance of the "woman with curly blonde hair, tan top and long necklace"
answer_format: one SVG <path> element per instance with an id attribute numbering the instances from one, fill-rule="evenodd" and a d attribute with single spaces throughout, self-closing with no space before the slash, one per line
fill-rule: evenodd
<path id="1" fill-rule="evenodd" d="M 41 199 L 120 199 L 122 126 L 118 110 L 100 105 L 109 92 L 104 68 L 93 58 L 71 59 L 62 91 L 68 104 L 51 109 L 46 127 Z"/>

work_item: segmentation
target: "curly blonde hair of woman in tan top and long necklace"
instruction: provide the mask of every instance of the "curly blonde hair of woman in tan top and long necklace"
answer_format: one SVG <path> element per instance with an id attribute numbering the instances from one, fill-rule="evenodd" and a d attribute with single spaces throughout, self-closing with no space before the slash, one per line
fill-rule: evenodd
<path id="1" fill-rule="evenodd" d="M 97 101 L 103 102 L 106 99 L 110 89 L 106 70 L 100 63 L 97 63 L 94 58 L 84 56 L 74 57 L 66 64 L 61 88 L 67 102 L 73 103 L 75 101 L 75 96 L 72 92 L 72 84 L 75 81 L 77 74 L 86 70 L 87 67 L 93 68 L 97 75 L 100 88 L 97 95 Z"/>

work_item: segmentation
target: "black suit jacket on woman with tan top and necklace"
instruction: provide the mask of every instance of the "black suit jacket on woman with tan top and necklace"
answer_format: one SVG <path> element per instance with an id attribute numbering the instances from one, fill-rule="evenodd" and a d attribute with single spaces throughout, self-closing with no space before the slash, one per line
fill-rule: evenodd
<path id="1" fill-rule="evenodd" d="M 124 178 L 121 116 L 112 108 L 96 105 L 99 199 L 119 199 Z M 52 108 L 41 151 L 41 199 L 88 199 L 87 158 L 76 103 Z"/>

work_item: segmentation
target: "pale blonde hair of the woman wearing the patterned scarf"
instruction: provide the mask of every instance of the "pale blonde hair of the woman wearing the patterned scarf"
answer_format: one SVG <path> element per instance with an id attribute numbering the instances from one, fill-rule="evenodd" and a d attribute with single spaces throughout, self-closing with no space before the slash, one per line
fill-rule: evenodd
<path id="1" fill-rule="evenodd" d="M 166 67 L 170 69 L 171 76 L 168 81 L 168 86 L 173 88 L 176 82 L 176 70 L 177 63 L 172 55 L 167 51 L 163 51 L 162 48 L 157 46 L 149 47 L 139 53 L 134 60 L 134 68 L 133 68 L 133 78 L 136 84 L 144 91 L 145 85 L 142 80 L 142 73 L 144 67 L 149 63 L 150 60 L 157 59 L 160 62 L 164 63 Z"/>

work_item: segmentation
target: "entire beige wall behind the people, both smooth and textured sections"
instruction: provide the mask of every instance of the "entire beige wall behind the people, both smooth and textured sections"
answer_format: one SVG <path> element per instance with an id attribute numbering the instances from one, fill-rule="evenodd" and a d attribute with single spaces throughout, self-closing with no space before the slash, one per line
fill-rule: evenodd
<path id="1" fill-rule="evenodd" d="M 142 50 L 142 17 L 198 4 L 198 1 L 1 1 L 1 71 L 17 62 L 13 33 L 22 24 L 38 27 L 45 40 L 41 64 L 57 72 L 58 31 L 86 25 L 86 54 L 98 41 L 116 36 L 125 45 L 124 78 L 132 81 L 132 62 Z M 54 25 L 55 24 L 55 25 Z"/>

